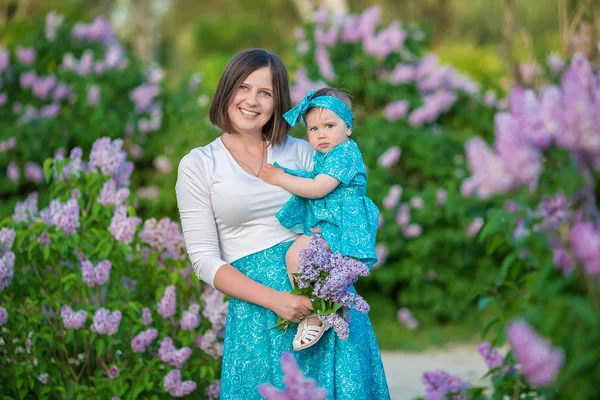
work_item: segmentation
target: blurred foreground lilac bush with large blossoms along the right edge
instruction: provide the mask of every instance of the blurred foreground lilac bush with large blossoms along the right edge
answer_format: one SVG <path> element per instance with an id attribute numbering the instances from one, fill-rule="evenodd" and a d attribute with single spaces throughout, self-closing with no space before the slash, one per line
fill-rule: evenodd
<path id="1" fill-rule="evenodd" d="M 495 117 L 494 145 L 466 143 L 472 175 L 461 191 L 511 200 L 489 210 L 479 237 L 505 253 L 480 290 L 493 309 L 484 334 L 493 391 L 528 398 L 592 398 L 600 373 L 600 74 L 575 54 L 559 84 L 514 88 Z M 481 349 L 480 349 L 481 351 Z"/>

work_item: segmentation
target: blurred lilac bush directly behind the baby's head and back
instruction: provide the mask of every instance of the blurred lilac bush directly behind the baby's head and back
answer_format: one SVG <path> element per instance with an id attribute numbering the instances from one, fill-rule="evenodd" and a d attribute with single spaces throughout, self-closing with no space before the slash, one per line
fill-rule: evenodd
<path id="1" fill-rule="evenodd" d="M 378 6 L 346 15 L 321 10 L 298 30 L 292 99 L 323 86 L 352 96 L 352 137 L 368 167 L 367 193 L 381 210 L 382 257 L 359 282 L 361 292 L 381 294 L 392 303 L 387 309 L 410 308 L 423 324 L 461 319 L 473 306 L 465 301 L 473 284 L 490 283 L 495 263 L 475 240 L 477 224 L 470 227 L 486 207 L 460 195 L 463 143 L 492 134 L 497 102 L 443 65 L 419 26 L 382 25 L 381 17 Z"/>

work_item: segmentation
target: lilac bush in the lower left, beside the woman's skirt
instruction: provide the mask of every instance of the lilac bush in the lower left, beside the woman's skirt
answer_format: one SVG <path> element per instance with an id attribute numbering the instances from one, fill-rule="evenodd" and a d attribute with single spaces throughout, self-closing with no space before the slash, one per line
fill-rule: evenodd
<path id="1" fill-rule="evenodd" d="M 136 216 L 120 140 L 70 154 L 44 163 L 48 206 L 32 193 L 0 226 L 3 393 L 214 393 L 224 295 L 190 277 L 177 223 Z M 126 194 L 100 201 L 107 182 Z"/>

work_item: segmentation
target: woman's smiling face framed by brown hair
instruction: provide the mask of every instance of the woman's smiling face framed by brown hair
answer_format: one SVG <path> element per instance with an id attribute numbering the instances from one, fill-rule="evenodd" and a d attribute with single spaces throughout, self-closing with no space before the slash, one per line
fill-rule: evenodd
<path id="1" fill-rule="evenodd" d="M 227 113 L 236 133 L 261 132 L 273 116 L 271 68 L 257 69 L 237 88 Z"/>

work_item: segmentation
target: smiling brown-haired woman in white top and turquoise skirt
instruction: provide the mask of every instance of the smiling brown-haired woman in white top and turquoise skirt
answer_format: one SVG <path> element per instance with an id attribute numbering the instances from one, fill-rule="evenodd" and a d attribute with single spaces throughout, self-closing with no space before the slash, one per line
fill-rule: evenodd
<path id="1" fill-rule="evenodd" d="M 310 301 L 289 293 L 285 254 L 296 234 L 275 214 L 290 193 L 258 178 L 265 164 L 309 171 L 313 150 L 288 136 L 282 115 L 291 108 L 287 71 L 262 49 L 237 54 L 223 72 L 210 121 L 223 132 L 179 164 L 177 202 L 196 275 L 231 297 L 225 328 L 221 399 L 260 399 L 257 386 L 282 386 L 281 355 L 293 332 L 270 329 L 277 317 L 299 322 Z M 307 376 L 335 399 L 388 399 L 373 328 L 353 313 L 350 337 L 328 331 L 295 353 Z"/>

